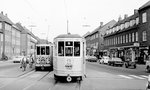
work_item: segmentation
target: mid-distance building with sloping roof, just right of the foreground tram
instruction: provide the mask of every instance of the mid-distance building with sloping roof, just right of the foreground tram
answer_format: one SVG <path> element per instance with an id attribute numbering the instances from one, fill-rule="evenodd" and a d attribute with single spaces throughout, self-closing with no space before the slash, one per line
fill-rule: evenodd
<path id="1" fill-rule="evenodd" d="M 112 27 L 115 23 L 115 20 L 112 20 L 105 25 L 103 25 L 103 23 L 101 22 L 99 27 L 84 36 L 84 38 L 86 39 L 88 55 L 101 55 L 104 46 L 103 36 L 106 30 Z"/>

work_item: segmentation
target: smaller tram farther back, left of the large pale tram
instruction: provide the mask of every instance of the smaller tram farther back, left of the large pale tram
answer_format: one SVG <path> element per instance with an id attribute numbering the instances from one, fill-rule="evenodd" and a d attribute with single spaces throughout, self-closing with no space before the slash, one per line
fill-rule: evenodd
<path id="1" fill-rule="evenodd" d="M 53 69 L 53 44 L 36 45 L 36 63 L 35 70 Z"/>

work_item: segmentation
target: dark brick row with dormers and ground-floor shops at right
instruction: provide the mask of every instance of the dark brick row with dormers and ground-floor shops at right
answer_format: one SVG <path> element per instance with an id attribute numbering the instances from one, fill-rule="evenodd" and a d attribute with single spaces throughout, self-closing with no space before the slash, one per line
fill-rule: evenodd
<path id="1" fill-rule="evenodd" d="M 144 4 L 134 14 L 118 21 L 108 29 L 105 36 L 105 49 L 110 57 L 120 57 L 123 60 L 137 60 L 144 63 L 148 59 L 150 46 L 150 1 Z"/>

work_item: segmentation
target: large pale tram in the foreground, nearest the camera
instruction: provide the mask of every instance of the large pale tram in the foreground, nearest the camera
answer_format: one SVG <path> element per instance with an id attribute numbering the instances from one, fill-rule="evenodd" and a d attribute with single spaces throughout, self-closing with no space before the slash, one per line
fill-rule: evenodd
<path id="1" fill-rule="evenodd" d="M 82 80 L 86 69 L 86 43 L 78 34 L 62 34 L 54 38 L 54 78 Z"/>

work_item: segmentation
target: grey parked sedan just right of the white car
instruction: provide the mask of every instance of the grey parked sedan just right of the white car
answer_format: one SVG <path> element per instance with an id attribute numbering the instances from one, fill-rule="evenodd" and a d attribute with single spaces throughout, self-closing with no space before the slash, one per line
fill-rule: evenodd
<path id="1" fill-rule="evenodd" d="M 112 65 L 112 66 L 123 66 L 123 61 L 121 58 L 117 58 L 117 57 L 113 57 L 108 61 L 108 65 Z"/>

